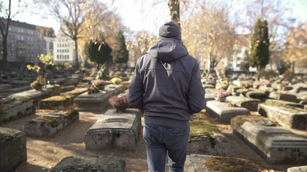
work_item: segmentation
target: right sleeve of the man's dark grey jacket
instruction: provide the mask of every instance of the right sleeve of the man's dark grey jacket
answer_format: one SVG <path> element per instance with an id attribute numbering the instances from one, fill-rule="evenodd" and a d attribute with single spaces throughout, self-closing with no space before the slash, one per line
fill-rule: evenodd
<path id="1" fill-rule="evenodd" d="M 188 95 L 188 106 L 190 114 L 199 113 L 206 108 L 207 103 L 205 99 L 205 93 L 206 92 L 201 81 L 201 70 L 199 64 L 196 63 L 191 73 Z"/>

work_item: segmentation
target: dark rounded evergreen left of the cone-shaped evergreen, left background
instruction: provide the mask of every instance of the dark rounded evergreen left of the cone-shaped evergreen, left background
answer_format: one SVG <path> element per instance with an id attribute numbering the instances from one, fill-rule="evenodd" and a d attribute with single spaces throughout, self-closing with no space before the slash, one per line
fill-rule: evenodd
<path id="1" fill-rule="evenodd" d="M 87 58 L 97 63 L 98 69 L 102 64 L 112 61 L 112 48 L 105 41 L 101 43 L 98 41 L 86 43 L 84 52 Z"/>

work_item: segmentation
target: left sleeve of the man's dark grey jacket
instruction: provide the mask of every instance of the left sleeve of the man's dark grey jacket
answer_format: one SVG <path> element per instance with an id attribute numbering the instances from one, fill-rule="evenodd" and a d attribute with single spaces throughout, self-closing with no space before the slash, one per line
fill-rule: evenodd
<path id="1" fill-rule="evenodd" d="M 137 63 L 135 74 L 126 92 L 128 103 L 130 103 L 134 108 L 143 110 L 143 94 L 143 81 L 141 78 L 140 67 Z"/>

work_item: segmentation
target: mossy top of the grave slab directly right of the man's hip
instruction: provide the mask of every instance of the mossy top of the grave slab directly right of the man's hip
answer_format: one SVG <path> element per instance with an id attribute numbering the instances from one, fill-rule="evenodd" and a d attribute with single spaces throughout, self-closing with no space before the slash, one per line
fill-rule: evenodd
<path id="1" fill-rule="evenodd" d="M 194 115 L 196 118 L 190 121 L 190 139 L 198 136 L 213 137 L 213 132 L 222 134 L 205 114 L 198 113 Z"/>

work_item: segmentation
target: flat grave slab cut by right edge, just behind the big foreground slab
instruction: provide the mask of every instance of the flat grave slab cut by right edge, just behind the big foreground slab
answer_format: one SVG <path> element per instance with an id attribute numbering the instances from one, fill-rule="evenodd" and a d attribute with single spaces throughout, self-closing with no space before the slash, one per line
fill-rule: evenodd
<path id="1" fill-rule="evenodd" d="M 262 116 L 277 121 L 283 127 L 306 130 L 307 111 L 304 109 L 264 103 L 258 105 L 258 112 Z"/>

